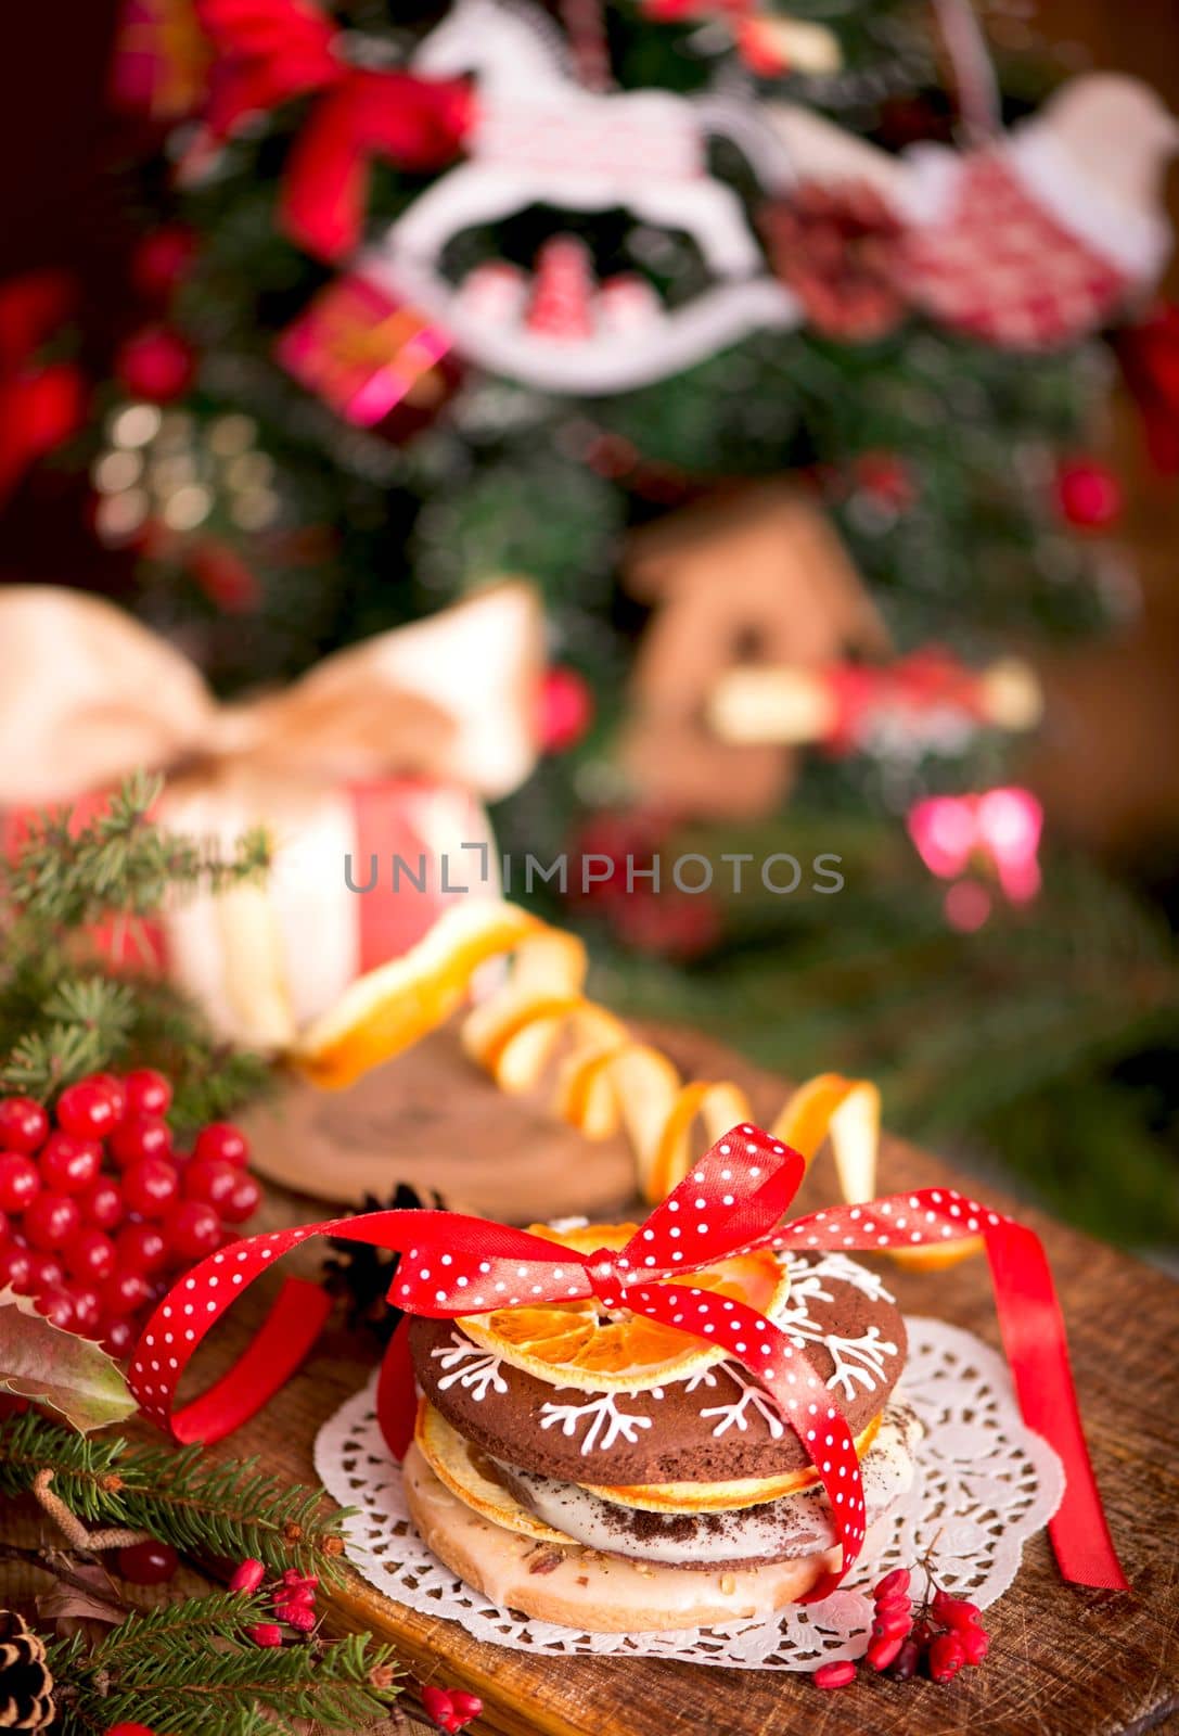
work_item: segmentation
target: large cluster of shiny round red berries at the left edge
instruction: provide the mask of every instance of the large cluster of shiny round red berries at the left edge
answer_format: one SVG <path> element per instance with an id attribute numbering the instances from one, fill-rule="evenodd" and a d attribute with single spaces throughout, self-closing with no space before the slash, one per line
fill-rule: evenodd
<path id="1" fill-rule="evenodd" d="M 52 1121 L 31 1097 L 0 1099 L 0 1288 L 118 1358 L 172 1278 L 260 1198 L 238 1128 L 212 1121 L 179 1153 L 170 1102 L 149 1068 L 78 1080 Z"/>

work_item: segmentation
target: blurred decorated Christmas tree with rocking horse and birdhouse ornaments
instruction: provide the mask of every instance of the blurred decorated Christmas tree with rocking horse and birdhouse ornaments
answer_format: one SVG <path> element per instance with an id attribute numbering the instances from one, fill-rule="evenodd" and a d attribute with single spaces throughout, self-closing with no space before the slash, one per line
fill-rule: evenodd
<path id="1" fill-rule="evenodd" d="M 844 858 L 832 901 L 597 891 L 615 995 L 1172 1229 L 1110 1076 L 1169 941 L 1068 865 L 1033 898 L 1037 804 L 983 800 L 1014 654 L 1125 606 L 1092 443 L 1169 240 L 1149 92 L 1000 99 L 964 0 L 135 0 L 118 85 L 174 122 L 89 453 L 141 613 L 233 691 L 530 575 L 561 752 L 505 849 Z"/>

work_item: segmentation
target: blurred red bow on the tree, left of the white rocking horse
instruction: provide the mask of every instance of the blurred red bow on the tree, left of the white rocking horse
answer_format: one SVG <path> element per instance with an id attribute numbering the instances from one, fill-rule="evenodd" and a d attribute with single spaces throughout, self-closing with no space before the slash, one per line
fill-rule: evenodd
<path id="1" fill-rule="evenodd" d="M 198 0 L 198 16 L 215 54 L 205 109 L 214 142 L 250 115 L 316 97 L 287 163 L 281 220 L 321 259 L 361 238 L 370 158 L 441 168 L 471 127 L 467 83 L 351 66 L 344 33 L 306 0 Z"/>

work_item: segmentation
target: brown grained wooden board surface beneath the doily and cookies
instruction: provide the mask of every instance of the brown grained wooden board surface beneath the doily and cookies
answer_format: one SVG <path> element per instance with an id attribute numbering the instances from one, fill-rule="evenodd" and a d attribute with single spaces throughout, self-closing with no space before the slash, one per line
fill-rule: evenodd
<path id="1" fill-rule="evenodd" d="M 745 1083 L 762 1120 L 781 1104 L 781 1082 L 715 1043 L 684 1031 L 655 1036 L 686 1071 Z M 457 1088 L 491 1087 L 464 1075 Z M 592 1161 L 592 1147 L 585 1161 Z M 882 1191 L 948 1179 L 932 1158 L 886 1141 Z M 396 1180 L 392 1156 L 389 1180 Z M 804 1201 L 813 1208 L 830 1198 L 828 1161 L 820 1160 Z M 988 1198 L 1016 1210 L 991 1191 Z M 273 1196 L 269 1215 L 311 1220 L 323 1208 Z M 408 1611 L 358 1575 L 330 1595 L 328 1630 L 375 1630 L 396 1641 L 420 1677 L 474 1689 L 486 1705 L 474 1729 L 498 1736 L 1129 1736 L 1179 1729 L 1179 1285 L 1049 1219 L 1019 1215 L 1040 1231 L 1052 1259 L 1089 1444 L 1134 1585 L 1130 1595 L 1064 1585 L 1040 1535 L 1024 1550 L 1016 1585 L 988 1613 L 993 1646 L 983 1668 L 964 1670 L 948 1687 L 865 1674 L 830 1694 L 780 1672 L 533 1660 L 478 1644 L 451 1621 Z M 321 1248 L 314 1243 L 300 1257 L 318 1259 Z M 985 1260 L 932 1276 L 889 1274 L 906 1309 L 941 1314 L 998 1344 Z M 200 1380 L 217 1373 L 248 1338 L 264 1307 L 259 1292 L 247 1293 L 201 1352 Z M 273 1472 L 313 1483 L 316 1430 L 365 1382 L 370 1366 L 356 1335 L 332 1325 L 300 1375 L 212 1451 L 260 1453 Z"/>

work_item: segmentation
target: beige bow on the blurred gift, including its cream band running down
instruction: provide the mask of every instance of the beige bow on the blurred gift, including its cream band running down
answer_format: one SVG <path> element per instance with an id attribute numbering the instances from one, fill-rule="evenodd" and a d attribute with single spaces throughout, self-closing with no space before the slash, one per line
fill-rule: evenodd
<path id="1" fill-rule="evenodd" d="M 269 884 L 168 908 L 168 969 L 224 1035 L 285 1050 L 347 981 L 318 868 L 347 849 L 339 792 L 431 779 L 443 830 L 446 786 L 507 795 L 537 757 L 542 654 L 537 594 L 505 580 L 325 658 L 281 693 L 222 705 L 113 604 L 0 587 L 0 806 L 68 802 L 146 766 L 167 773 L 161 825 L 231 847 L 264 823 L 278 851 Z M 307 934 L 313 948 L 292 948 Z"/>

